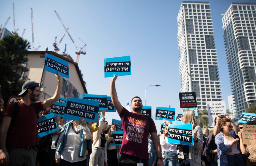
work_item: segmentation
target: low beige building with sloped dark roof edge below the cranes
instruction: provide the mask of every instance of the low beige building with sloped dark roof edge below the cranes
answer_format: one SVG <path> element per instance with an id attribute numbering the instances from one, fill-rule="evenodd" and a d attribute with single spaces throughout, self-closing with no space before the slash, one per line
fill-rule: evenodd
<path id="1" fill-rule="evenodd" d="M 25 81 L 33 80 L 40 83 L 40 96 L 38 100 L 46 100 L 52 97 L 58 82 L 55 74 L 45 71 L 45 52 L 69 63 L 69 78 L 62 77 L 62 91 L 60 97 L 82 98 L 82 94 L 87 94 L 80 69 L 73 60 L 52 51 L 28 51 L 28 61 L 25 67 L 28 68 L 29 71 L 24 72 L 23 77 L 26 77 Z"/>

